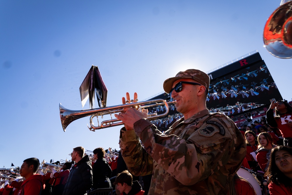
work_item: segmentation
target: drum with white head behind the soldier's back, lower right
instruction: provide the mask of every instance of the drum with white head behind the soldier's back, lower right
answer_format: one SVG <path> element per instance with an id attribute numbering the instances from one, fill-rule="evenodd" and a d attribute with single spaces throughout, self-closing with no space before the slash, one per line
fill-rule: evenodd
<path id="1" fill-rule="evenodd" d="M 265 182 L 263 175 L 244 167 L 239 168 L 237 175 L 246 179 L 256 191 L 257 195 L 267 195 L 267 187 L 263 186 L 263 182 Z"/>

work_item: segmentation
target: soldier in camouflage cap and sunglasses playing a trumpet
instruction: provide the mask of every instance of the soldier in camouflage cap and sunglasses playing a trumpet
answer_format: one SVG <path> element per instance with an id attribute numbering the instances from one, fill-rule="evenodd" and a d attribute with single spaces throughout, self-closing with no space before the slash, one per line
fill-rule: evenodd
<path id="1" fill-rule="evenodd" d="M 246 144 L 232 120 L 209 113 L 209 83 L 209 76 L 195 69 L 164 81 L 165 92 L 184 115 L 164 134 L 146 119 L 145 110 L 125 108 L 124 113 L 115 115 L 125 124 L 121 150 L 128 169 L 133 175 L 152 173 L 149 194 L 234 192 L 230 182 L 245 157 Z M 126 99 L 130 101 L 128 93 Z M 122 101 L 125 103 L 125 98 Z"/>

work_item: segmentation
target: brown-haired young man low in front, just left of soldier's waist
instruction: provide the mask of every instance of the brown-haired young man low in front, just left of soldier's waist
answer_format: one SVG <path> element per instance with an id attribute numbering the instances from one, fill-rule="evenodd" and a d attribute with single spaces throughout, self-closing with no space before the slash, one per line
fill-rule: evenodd
<path id="1" fill-rule="evenodd" d="M 141 185 L 138 181 L 133 181 L 133 177 L 128 170 L 125 170 L 117 175 L 117 178 L 114 182 L 117 184 L 116 189 L 121 192 L 123 195 L 143 195 L 144 191 L 142 190 Z"/>

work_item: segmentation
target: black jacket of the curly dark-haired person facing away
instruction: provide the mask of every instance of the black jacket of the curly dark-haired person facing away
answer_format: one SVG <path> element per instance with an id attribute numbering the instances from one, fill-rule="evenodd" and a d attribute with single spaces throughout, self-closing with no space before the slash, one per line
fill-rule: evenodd
<path id="1" fill-rule="evenodd" d="M 108 162 L 105 158 L 97 159 L 93 164 L 93 188 L 110 188 L 112 187 L 109 177 L 112 174 Z"/>

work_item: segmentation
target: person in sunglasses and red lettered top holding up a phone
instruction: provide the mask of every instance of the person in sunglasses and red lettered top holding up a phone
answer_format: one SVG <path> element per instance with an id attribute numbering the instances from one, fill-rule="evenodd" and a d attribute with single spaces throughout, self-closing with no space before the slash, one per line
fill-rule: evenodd
<path id="1" fill-rule="evenodd" d="M 275 109 L 275 117 L 273 109 Z M 267 124 L 279 128 L 284 137 L 284 146 L 292 146 L 292 107 L 285 101 L 272 102 L 267 111 Z"/>

